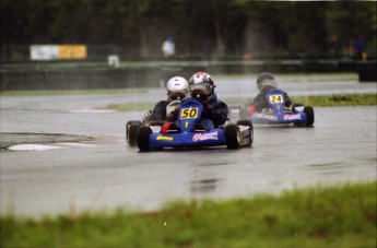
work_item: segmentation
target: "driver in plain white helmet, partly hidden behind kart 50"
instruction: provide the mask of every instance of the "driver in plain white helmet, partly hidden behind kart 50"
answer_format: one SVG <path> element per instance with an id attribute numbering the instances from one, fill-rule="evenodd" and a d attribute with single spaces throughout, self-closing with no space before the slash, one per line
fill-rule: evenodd
<path id="1" fill-rule="evenodd" d="M 182 76 L 173 76 L 166 83 L 167 99 L 160 101 L 153 108 L 151 120 L 166 120 L 166 106 L 175 99 L 182 101 L 189 96 L 189 84 Z"/>

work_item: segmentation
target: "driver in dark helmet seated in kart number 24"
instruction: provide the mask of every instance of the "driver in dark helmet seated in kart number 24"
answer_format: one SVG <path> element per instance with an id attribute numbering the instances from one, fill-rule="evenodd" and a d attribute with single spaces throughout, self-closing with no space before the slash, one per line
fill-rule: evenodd
<path id="1" fill-rule="evenodd" d="M 271 91 L 272 88 L 276 87 L 275 78 L 270 72 L 260 73 L 257 78 L 257 87 L 259 90 L 259 94 L 254 98 L 250 106 L 248 106 L 248 111 L 250 114 L 255 111 L 262 111 L 264 108 L 269 108 L 270 105 L 267 102 L 266 94 Z M 285 97 L 285 107 L 290 107 L 292 105 L 292 99 L 284 92 Z"/>

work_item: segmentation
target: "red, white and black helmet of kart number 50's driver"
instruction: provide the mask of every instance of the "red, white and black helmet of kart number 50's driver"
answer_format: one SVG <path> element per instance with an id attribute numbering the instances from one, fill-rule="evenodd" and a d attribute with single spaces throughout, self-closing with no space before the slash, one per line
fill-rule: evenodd
<path id="1" fill-rule="evenodd" d="M 189 80 L 189 85 L 191 96 L 203 101 L 210 98 L 215 87 L 211 75 L 205 72 L 195 73 Z"/>

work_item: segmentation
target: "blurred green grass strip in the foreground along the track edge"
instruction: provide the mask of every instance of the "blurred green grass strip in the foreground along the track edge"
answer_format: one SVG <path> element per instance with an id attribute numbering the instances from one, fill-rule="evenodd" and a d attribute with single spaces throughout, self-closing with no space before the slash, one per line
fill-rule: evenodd
<path id="1" fill-rule="evenodd" d="M 376 247 L 377 182 L 226 201 L 170 202 L 153 213 L 1 216 L 1 247 Z"/>

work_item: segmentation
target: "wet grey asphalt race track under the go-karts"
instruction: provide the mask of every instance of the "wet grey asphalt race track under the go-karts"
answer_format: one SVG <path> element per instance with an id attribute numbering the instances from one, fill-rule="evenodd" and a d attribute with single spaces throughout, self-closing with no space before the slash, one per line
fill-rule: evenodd
<path id="1" fill-rule="evenodd" d="M 213 75 L 214 76 L 214 75 Z M 355 78 L 282 76 L 291 95 L 374 92 Z M 217 80 L 221 98 L 256 94 L 250 80 Z M 323 82 L 325 81 L 325 82 Z M 250 92 L 250 93 L 247 93 Z M 93 140 L 46 151 L 1 151 L 1 213 L 21 215 L 125 206 L 155 210 L 173 199 L 252 196 L 316 185 L 376 179 L 376 107 L 315 107 L 314 128 L 255 127 L 250 149 L 140 153 L 125 142 L 127 120 L 142 111 L 90 109 L 142 94 L 1 97 L 1 132 L 68 133 Z"/>

